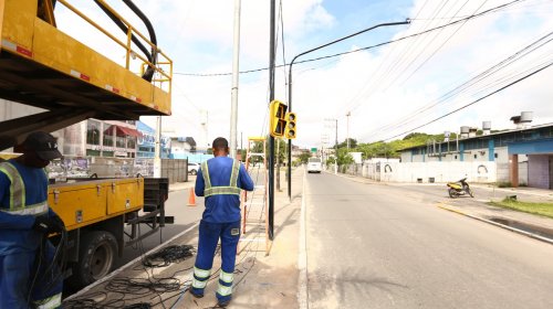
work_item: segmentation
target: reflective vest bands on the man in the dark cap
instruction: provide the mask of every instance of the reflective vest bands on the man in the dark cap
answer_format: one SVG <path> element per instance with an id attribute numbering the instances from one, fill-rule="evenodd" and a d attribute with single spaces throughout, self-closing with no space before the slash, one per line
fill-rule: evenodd
<path id="1" fill-rule="evenodd" d="M 25 185 L 23 178 L 21 178 L 18 169 L 12 163 L 1 162 L 0 171 L 3 172 L 11 182 L 9 209 L 0 207 L 0 211 L 14 215 L 41 215 L 48 212 L 48 200 L 32 205 L 25 203 Z"/>

